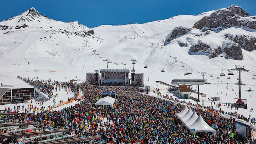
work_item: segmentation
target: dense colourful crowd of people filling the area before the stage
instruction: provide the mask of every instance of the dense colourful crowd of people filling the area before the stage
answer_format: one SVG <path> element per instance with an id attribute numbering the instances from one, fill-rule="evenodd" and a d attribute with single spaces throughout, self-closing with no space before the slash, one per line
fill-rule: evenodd
<path id="1" fill-rule="evenodd" d="M 51 81 L 51 80 L 49 80 Z M 34 84 L 34 82 L 32 82 Z M 54 90 L 58 82 L 46 86 Z M 73 85 L 70 82 L 70 85 Z M 71 86 L 72 87 L 72 86 Z M 62 110 L 44 111 L 38 114 L 26 114 L 30 122 L 42 122 L 64 128 L 80 130 L 80 136 L 89 136 L 90 133 L 100 134 L 102 142 L 116 144 L 232 144 L 253 142 L 250 138 L 238 136 L 233 128 L 232 118 L 224 118 L 212 106 L 193 105 L 192 110 L 201 114 L 204 120 L 216 130 L 216 137 L 211 133 L 194 135 L 182 126 L 182 122 L 175 116 L 184 106 L 178 99 L 170 96 L 154 97 L 138 92 L 136 87 L 126 86 L 94 86 L 79 84 L 84 93 L 82 102 Z M 117 100 L 113 108 L 95 106 L 102 92 L 116 92 Z M 158 93 L 159 94 L 159 93 Z M 170 100 L 163 99 L 168 98 Z M 176 101 L 176 102 L 173 102 Z M 15 118 L 14 118 L 15 119 Z M 90 133 L 86 133 L 90 132 Z M 76 133 L 77 134 L 77 133 Z"/>

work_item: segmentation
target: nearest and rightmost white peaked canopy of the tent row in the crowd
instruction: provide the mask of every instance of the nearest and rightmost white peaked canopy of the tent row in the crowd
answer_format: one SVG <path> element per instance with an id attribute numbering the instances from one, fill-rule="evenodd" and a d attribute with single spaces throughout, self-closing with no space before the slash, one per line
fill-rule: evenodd
<path id="1" fill-rule="evenodd" d="M 210 127 L 202 118 L 201 114 L 199 114 L 196 121 L 194 121 L 192 124 L 188 125 L 188 128 L 192 132 L 213 132 L 214 136 L 216 135 L 216 130 L 214 130 L 212 127 Z"/>

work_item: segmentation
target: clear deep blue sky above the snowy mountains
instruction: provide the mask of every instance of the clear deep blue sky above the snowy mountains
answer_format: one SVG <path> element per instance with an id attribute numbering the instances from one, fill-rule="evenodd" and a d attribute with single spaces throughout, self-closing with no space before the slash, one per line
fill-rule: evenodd
<path id="1" fill-rule="evenodd" d="M 177 15 L 197 15 L 232 4 L 256 15 L 256 0 L 1 0 L 0 21 L 34 7 L 54 20 L 78 21 L 93 28 L 103 24 L 141 24 Z"/>

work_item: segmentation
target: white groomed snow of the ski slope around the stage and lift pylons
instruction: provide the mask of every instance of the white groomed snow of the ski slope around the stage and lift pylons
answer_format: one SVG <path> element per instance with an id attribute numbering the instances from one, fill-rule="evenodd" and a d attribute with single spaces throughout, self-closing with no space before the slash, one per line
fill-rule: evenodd
<path id="1" fill-rule="evenodd" d="M 255 50 L 249 52 L 242 49 L 243 60 L 226 60 L 220 56 L 209 58 L 202 54 L 191 55 L 188 53 L 189 47 L 180 47 L 177 42 L 161 46 L 164 45 L 164 38 L 175 27 L 192 28 L 195 22 L 212 12 L 215 11 L 197 16 L 174 16 L 145 24 L 102 25 L 92 28 L 94 34 L 90 36 L 80 35 L 83 30 L 91 29 L 78 22 L 58 22 L 43 16 L 38 16 L 32 21 L 18 21 L 22 16 L 26 17 L 27 12 L 24 12 L 13 19 L 0 22 L 0 25 L 10 25 L 14 28 L 16 25 L 28 25 L 18 30 L 13 28 L 7 34 L 4 34 L 6 30 L 0 30 L 0 80 L 6 76 L 16 78 L 18 75 L 58 81 L 86 80 L 87 72 L 107 68 L 104 59 L 112 61 L 108 64 L 109 69 L 131 69 L 131 59 L 136 59 L 135 71 L 144 73 L 144 84 L 147 86 L 166 88 L 155 81 L 170 83 L 173 79 L 202 79 L 200 72 L 206 72 L 204 78 L 211 84 L 200 86 L 200 92 L 206 94 L 205 100 L 220 96 L 221 102 L 226 103 L 233 102 L 238 95 L 238 85 L 234 84 L 238 81 L 238 72 L 233 71 L 234 76 L 227 79 L 228 69 L 235 68 L 235 65 L 244 65 L 250 72 L 242 72 L 241 80 L 246 84 L 242 86 L 242 98 L 247 98 L 248 107 L 256 110 L 256 80 L 251 79 L 252 75 L 256 74 Z M 236 28 L 227 28 L 223 30 L 225 31 L 238 34 L 244 32 Z M 255 33 L 246 31 L 246 34 Z M 220 42 L 220 39 L 213 38 L 208 41 L 215 44 Z M 194 36 L 188 34 L 180 39 L 194 39 Z M 95 54 L 93 50 L 96 50 Z M 174 57 L 177 57 L 177 62 L 174 62 Z M 113 64 L 114 62 L 118 65 Z M 122 65 L 122 62 L 126 65 Z M 144 68 L 145 65 L 148 68 Z M 166 72 L 161 72 L 162 69 Z M 188 70 L 192 70 L 192 74 L 184 76 Z M 216 79 L 222 70 L 226 76 Z M 8 80 L 1 82 L 12 83 Z M 13 83 L 20 83 L 20 80 L 16 79 Z M 249 85 L 251 92 L 248 92 Z M 195 90 L 196 86 L 193 86 L 193 89 Z M 46 107 L 49 104 L 47 103 Z M 209 104 L 205 102 L 205 105 Z M 238 112 L 249 114 L 249 110 Z"/>

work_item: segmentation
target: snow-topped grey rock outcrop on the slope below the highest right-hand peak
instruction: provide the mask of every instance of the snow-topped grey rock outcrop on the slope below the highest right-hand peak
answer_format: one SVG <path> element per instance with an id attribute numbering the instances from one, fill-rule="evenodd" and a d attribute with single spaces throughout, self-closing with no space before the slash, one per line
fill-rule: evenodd
<path id="1" fill-rule="evenodd" d="M 176 27 L 166 36 L 164 44 L 176 42 L 181 47 L 190 46 L 188 53 L 192 55 L 202 54 L 209 56 L 209 58 L 220 55 L 225 58 L 234 58 L 234 60 L 242 60 L 243 58 L 241 47 L 237 43 L 210 30 L 202 32 L 195 28 Z"/>

